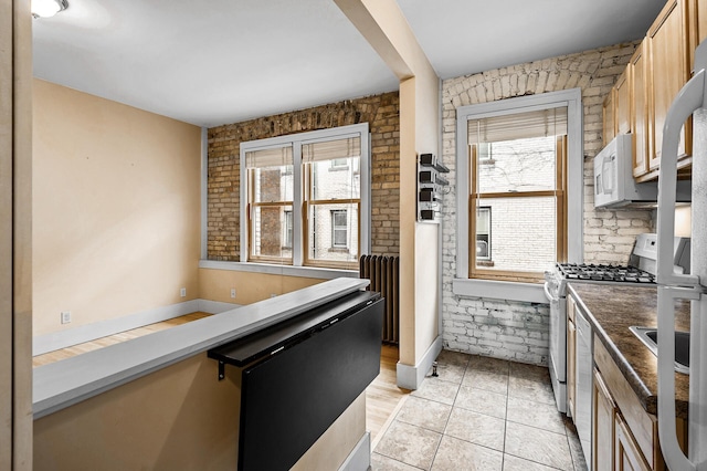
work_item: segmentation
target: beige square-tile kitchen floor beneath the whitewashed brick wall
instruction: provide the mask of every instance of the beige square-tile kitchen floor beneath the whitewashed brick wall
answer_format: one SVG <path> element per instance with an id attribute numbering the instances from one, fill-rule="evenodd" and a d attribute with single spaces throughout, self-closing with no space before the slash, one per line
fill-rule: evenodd
<path id="1" fill-rule="evenodd" d="M 587 470 L 547 368 L 443 350 L 376 444 L 372 471 Z"/>

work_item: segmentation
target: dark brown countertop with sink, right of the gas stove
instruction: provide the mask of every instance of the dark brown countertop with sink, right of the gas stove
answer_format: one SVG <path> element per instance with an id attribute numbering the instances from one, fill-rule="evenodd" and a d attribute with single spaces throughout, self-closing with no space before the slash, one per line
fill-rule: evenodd
<path id="1" fill-rule="evenodd" d="M 657 415 L 657 358 L 629 331 L 657 326 L 657 289 L 613 284 L 569 283 L 594 334 L 619 366 L 648 414 Z M 675 305 L 675 326 L 689 331 L 689 302 Z M 675 373 L 675 408 L 687 417 L 689 376 Z"/>

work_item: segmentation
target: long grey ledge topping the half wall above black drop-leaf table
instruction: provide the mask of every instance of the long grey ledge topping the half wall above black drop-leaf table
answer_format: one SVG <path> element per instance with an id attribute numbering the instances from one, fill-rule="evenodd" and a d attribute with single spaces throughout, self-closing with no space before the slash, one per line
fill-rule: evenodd
<path id="1" fill-rule="evenodd" d="M 340 278 L 33 370 L 34 419 L 365 289 Z"/>

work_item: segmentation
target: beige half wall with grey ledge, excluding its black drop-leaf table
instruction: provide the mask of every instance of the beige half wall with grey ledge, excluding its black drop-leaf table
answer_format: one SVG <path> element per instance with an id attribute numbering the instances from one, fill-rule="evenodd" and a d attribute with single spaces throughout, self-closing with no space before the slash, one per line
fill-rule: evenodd
<path id="1" fill-rule="evenodd" d="M 331 280 L 35 368 L 35 469 L 235 469 L 246 393 L 232 367 L 219 380 L 219 362 L 207 350 L 360 297 L 367 284 Z M 347 323 L 341 317 L 333 325 L 342 332 Z M 297 350 L 287 346 L 272 357 L 291 349 Z M 286 383 L 281 387 L 287 395 Z M 365 393 L 342 408 L 293 469 L 368 468 Z"/>

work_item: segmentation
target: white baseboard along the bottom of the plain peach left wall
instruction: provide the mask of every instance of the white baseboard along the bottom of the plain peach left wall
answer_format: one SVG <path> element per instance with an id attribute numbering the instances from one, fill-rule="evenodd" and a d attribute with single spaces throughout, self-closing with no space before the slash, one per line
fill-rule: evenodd
<path id="1" fill-rule="evenodd" d="M 84 342 L 119 334 L 131 328 L 143 327 L 156 322 L 168 321 L 198 311 L 219 314 L 239 307 L 238 304 L 220 303 L 209 300 L 191 300 L 183 303 L 161 306 L 154 310 L 129 314 L 118 318 L 80 325 L 51 334 L 38 335 L 32 339 L 32 356 L 42 355 L 61 348 L 67 348 Z"/>

